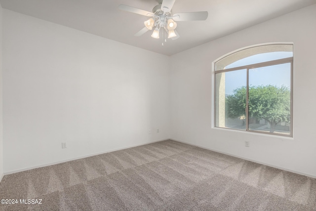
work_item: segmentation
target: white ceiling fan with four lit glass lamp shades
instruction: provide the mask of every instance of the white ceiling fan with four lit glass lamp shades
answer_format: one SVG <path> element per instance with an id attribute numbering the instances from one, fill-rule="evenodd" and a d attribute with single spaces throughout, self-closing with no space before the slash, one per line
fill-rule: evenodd
<path id="1" fill-rule="evenodd" d="M 141 36 L 147 31 L 154 29 L 152 34 L 153 38 L 159 39 L 160 29 L 164 29 L 168 33 L 168 38 L 176 40 L 179 38 L 179 34 L 175 30 L 177 27 L 176 21 L 197 21 L 206 20 L 208 13 L 202 12 L 184 12 L 173 14 L 171 9 L 175 0 L 159 0 L 158 5 L 153 8 L 153 12 L 138 9 L 125 4 L 120 4 L 118 8 L 122 11 L 133 12 L 140 15 L 151 17 L 144 22 L 145 27 L 137 32 L 134 36 Z"/>

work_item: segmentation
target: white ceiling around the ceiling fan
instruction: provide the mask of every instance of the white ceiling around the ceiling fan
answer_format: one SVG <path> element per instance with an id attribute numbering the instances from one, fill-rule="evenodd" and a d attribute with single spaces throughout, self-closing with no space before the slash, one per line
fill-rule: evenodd
<path id="1" fill-rule="evenodd" d="M 126 4 L 152 11 L 158 0 L 0 0 L 2 8 L 68 26 L 114 41 L 165 55 L 237 32 L 288 12 L 316 3 L 316 0 L 176 0 L 172 11 L 207 11 L 206 21 L 178 22 L 180 38 L 163 41 L 151 31 L 133 36 L 144 27 L 146 16 L 118 10 Z"/>

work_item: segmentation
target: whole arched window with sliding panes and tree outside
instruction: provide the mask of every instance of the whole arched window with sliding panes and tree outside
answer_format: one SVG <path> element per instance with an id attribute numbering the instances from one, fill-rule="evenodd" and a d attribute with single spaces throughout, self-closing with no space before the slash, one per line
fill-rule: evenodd
<path id="1" fill-rule="evenodd" d="M 292 136 L 293 44 L 264 44 L 215 62 L 215 127 Z"/>

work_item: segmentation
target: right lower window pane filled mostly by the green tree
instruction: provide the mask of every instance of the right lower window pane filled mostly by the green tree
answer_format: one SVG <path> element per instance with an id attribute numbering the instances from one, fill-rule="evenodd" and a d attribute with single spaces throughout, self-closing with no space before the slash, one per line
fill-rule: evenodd
<path id="1" fill-rule="evenodd" d="M 291 63 L 249 69 L 249 130 L 290 135 Z"/>

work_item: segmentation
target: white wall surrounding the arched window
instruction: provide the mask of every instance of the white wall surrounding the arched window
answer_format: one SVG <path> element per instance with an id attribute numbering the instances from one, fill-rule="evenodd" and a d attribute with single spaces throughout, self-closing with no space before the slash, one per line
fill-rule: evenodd
<path id="1" fill-rule="evenodd" d="M 315 20 L 316 4 L 173 55 L 171 138 L 316 177 Z M 294 137 L 214 128 L 212 61 L 266 42 L 294 42 Z"/>

